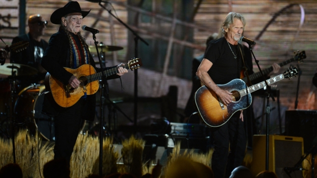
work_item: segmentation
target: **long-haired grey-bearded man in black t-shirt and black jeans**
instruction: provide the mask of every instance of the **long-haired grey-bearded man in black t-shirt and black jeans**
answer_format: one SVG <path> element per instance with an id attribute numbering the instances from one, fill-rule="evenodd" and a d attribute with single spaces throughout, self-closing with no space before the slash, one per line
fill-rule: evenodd
<path id="1" fill-rule="evenodd" d="M 209 45 L 196 73 L 205 86 L 213 90 L 225 105 L 232 102 L 232 93 L 220 89 L 217 85 L 227 84 L 233 79 L 240 78 L 243 63 L 238 41 L 245 24 L 245 18 L 241 14 L 228 13 L 221 27 L 224 37 Z M 211 133 L 214 138 L 211 160 L 214 176 L 229 177 L 231 171 L 242 164 L 245 154 L 246 136 L 242 112 L 233 114 L 222 126 L 212 128 Z"/>

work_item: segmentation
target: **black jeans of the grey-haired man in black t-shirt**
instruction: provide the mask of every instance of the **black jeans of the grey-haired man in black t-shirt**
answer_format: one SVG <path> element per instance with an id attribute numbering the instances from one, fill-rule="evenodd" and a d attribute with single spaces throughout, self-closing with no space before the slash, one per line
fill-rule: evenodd
<path id="1" fill-rule="evenodd" d="M 240 111 L 237 111 L 224 125 L 211 128 L 214 139 L 211 168 L 215 178 L 228 178 L 232 170 L 243 162 L 247 143 L 239 115 Z"/>

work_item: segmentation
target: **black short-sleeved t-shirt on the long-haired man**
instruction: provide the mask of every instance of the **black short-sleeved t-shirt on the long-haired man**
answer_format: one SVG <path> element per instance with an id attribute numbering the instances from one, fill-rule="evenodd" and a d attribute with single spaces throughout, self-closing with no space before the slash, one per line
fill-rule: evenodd
<path id="1" fill-rule="evenodd" d="M 237 56 L 236 59 L 233 53 Z M 224 37 L 212 42 L 208 46 L 204 58 L 212 62 L 208 74 L 215 84 L 227 84 L 233 79 L 240 78 L 242 69 L 240 49 L 238 45 L 228 44 Z"/>

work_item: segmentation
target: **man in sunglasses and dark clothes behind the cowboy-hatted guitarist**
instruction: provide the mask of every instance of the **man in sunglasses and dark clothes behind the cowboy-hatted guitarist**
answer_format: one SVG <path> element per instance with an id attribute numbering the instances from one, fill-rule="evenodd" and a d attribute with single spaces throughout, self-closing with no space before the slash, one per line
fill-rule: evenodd
<path id="1" fill-rule="evenodd" d="M 28 20 L 29 33 L 15 37 L 12 40 L 12 44 L 27 41 L 29 42 L 29 45 L 25 50 L 12 52 L 10 54 L 10 63 L 25 64 L 38 70 L 38 75 L 24 76 L 23 79 L 21 79 L 21 82 L 23 82 L 23 84 L 21 84 L 22 89 L 31 84 L 40 84 L 44 82 L 47 72 L 41 66 L 41 58 L 49 44 L 42 38 L 45 34 L 47 25 L 48 21 L 46 21 L 40 14 L 31 15 Z"/>

